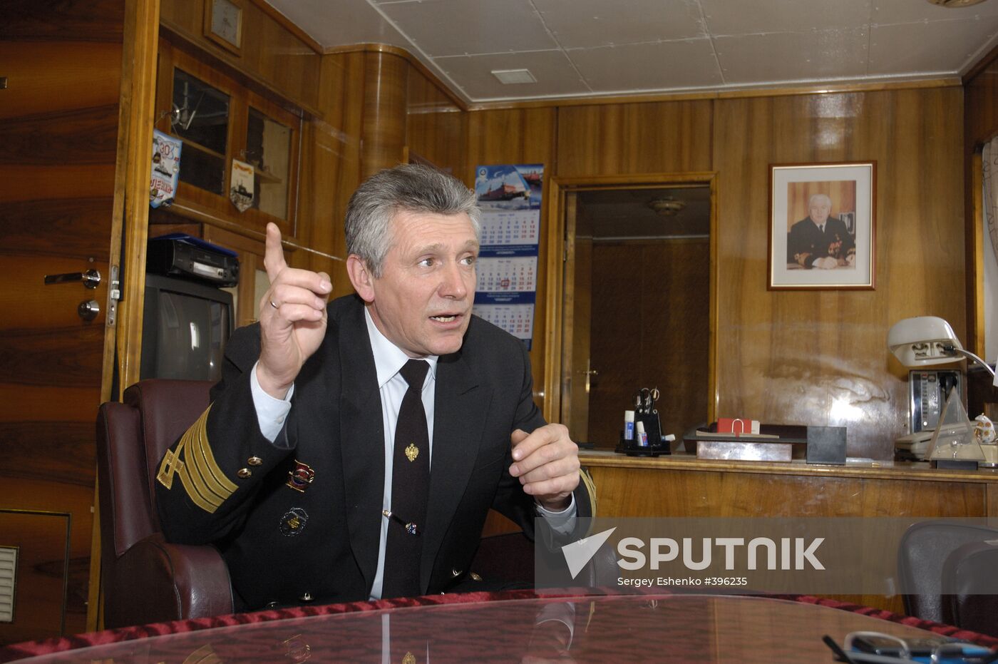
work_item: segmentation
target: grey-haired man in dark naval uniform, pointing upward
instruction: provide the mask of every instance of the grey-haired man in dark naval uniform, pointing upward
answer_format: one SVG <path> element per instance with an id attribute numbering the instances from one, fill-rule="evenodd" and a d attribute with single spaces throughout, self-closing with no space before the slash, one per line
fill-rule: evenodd
<path id="1" fill-rule="evenodd" d="M 373 176 L 346 213 L 356 295 L 328 304 L 329 277 L 287 267 L 267 226 L 259 321 L 233 334 L 212 405 L 156 481 L 168 539 L 215 544 L 239 609 L 464 589 L 490 507 L 528 534 L 544 516 L 549 542 L 592 515 L 523 343 L 471 314 L 479 218 L 434 169 Z M 425 377 L 402 375 L 410 360 Z M 409 380 L 428 430 L 399 453 Z M 420 455 L 428 477 L 393 486 Z"/>

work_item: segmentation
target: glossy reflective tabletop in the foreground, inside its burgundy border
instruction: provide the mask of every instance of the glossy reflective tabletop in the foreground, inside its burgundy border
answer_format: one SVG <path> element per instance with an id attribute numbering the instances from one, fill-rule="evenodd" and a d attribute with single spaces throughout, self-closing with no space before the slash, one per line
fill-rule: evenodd
<path id="1" fill-rule="evenodd" d="M 572 624 L 571 636 L 566 623 Z M 858 630 L 928 634 L 857 613 L 771 598 L 611 595 L 269 620 L 80 648 L 30 661 L 830 662 L 821 636 L 828 634 L 841 644 L 846 633 Z"/>

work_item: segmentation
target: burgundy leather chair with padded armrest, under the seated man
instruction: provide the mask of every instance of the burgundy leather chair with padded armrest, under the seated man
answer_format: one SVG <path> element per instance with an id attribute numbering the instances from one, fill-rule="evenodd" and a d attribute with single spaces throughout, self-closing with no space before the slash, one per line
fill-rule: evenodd
<path id="1" fill-rule="evenodd" d="M 158 462 L 209 405 L 206 380 L 142 380 L 97 416 L 101 568 L 107 628 L 233 612 L 213 546 L 165 541 L 156 511 Z"/>

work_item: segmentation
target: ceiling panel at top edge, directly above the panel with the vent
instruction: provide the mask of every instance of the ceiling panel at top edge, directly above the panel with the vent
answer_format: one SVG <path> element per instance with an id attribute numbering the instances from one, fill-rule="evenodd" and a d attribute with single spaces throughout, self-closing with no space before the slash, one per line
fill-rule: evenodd
<path id="1" fill-rule="evenodd" d="M 412 0 L 377 7 L 430 57 L 558 46 L 530 0 Z"/>

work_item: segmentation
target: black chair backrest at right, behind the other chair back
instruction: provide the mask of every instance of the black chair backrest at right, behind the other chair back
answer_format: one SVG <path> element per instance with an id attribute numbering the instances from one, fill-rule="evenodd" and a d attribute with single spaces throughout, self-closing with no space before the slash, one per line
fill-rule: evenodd
<path id="1" fill-rule="evenodd" d="M 897 553 L 897 571 L 904 590 L 908 615 L 948 622 L 942 595 L 942 574 L 947 557 L 969 542 L 998 538 L 998 530 L 955 521 L 922 521 L 905 531 Z"/>

